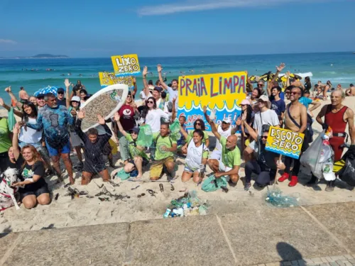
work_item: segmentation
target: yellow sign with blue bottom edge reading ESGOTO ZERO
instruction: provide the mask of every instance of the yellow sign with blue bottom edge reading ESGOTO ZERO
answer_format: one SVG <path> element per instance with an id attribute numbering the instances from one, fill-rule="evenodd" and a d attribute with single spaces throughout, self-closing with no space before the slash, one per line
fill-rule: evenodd
<path id="1" fill-rule="evenodd" d="M 288 129 L 270 127 L 265 149 L 288 157 L 298 159 L 305 134 Z"/>

